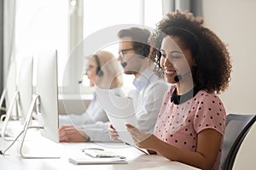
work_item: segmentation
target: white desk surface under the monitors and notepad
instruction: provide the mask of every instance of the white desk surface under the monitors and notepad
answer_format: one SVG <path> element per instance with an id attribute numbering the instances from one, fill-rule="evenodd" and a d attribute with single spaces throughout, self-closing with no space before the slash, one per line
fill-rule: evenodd
<path id="1" fill-rule="evenodd" d="M 6 149 L 10 141 L 3 141 L 0 138 L 0 150 Z M 24 170 L 73 170 L 73 169 L 197 169 L 189 167 L 177 161 L 169 161 L 163 156 L 146 156 L 143 152 L 132 146 L 121 143 L 55 143 L 41 136 L 39 130 L 29 129 L 27 131 L 23 154 L 26 156 L 60 156 L 59 159 L 24 159 L 18 154 L 16 142 L 7 151 L 9 156 L 0 156 L 1 170 L 24 169 Z M 128 164 L 113 165 L 74 165 L 68 158 L 86 157 L 81 151 L 87 147 L 98 147 L 105 150 L 113 150 L 119 155 L 127 158 Z"/>

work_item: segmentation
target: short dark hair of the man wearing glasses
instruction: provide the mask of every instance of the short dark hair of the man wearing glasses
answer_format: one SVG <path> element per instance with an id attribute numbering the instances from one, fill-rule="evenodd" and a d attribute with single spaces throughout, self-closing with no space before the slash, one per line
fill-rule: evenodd
<path id="1" fill-rule="evenodd" d="M 143 57 L 148 57 L 150 51 L 150 45 L 148 44 L 148 37 L 150 37 L 150 31 L 143 28 L 131 27 L 123 29 L 118 32 L 118 37 L 131 37 L 132 48 L 137 54 Z"/>

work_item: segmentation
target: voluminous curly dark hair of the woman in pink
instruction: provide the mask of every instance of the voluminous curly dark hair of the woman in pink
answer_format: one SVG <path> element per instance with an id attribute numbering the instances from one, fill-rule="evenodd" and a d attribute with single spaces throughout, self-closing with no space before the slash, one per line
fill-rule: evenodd
<path id="1" fill-rule="evenodd" d="M 179 37 L 195 59 L 192 77 L 199 89 L 220 94 L 229 86 L 231 62 L 226 45 L 218 36 L 202 26 L 203 19 L 187 11 L 176 10 L 160 20 L 149 38 L 151 44 L 149 57 L 154 64 L 154 71 L 160 68 L 160 45 L 164 37 Z"/>

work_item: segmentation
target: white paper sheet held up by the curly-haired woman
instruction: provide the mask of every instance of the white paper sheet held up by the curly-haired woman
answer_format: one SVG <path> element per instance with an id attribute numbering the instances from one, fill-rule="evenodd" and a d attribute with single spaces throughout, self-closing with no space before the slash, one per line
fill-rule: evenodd
<path id="1" fill-rule="evenodd" d="M 127 132 L 125 127 L 125 124 L 137 127 L 133 100 L 117 96 L 113 93 L 113 90 L 98 87 L 96 87 L 96 97 L 102 110 L 106 111 L 110 123 L 113 124 L 113 127 L 119 133 L 119 139 L 125 143 L 134 144 L 130 133 Z"/>

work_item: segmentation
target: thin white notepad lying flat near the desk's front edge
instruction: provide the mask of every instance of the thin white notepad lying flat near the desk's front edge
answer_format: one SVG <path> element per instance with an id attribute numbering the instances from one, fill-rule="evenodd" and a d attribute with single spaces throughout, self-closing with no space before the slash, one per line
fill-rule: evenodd
<path id="1" fill-rule="evenodd" d="M 119 157 L 111 158 L 69 158 L 69 162 L 76 165 L 94 165 L 94 164 L 127 164 L 125 159 Z"/>

